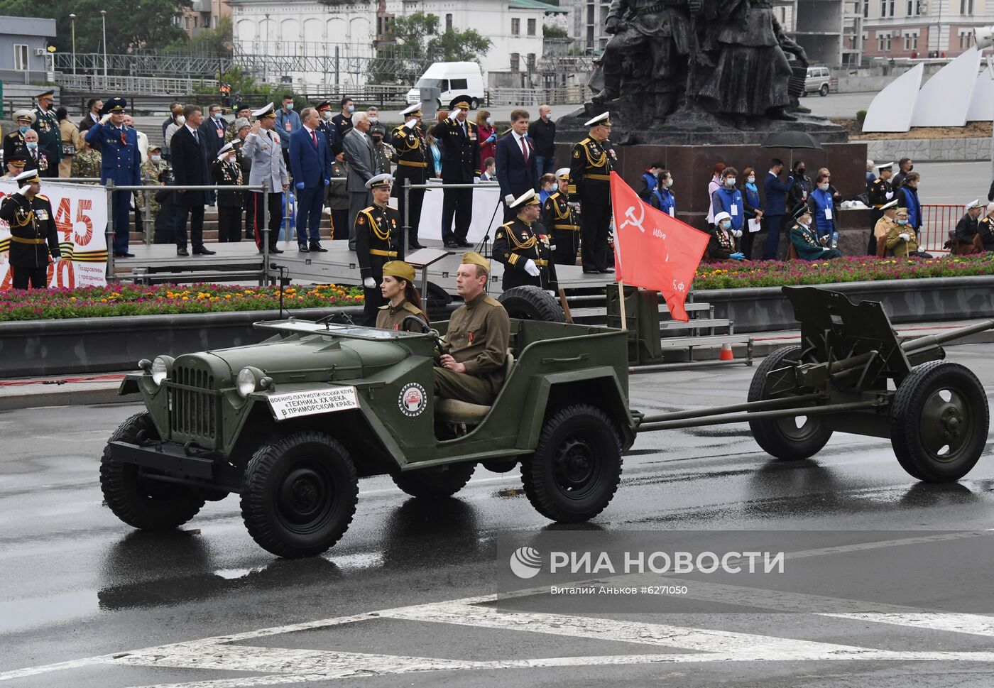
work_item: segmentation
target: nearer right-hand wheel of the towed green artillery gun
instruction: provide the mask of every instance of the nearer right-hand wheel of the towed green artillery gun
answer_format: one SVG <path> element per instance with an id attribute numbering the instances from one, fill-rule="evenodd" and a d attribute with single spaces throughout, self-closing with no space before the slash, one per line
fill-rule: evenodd
<path id="1" fill-rule="evenodd" d="M 966 475 L 987 443 L 983 385 L 958 363 L 931 361 L 902 381 L 891 405 L 891 444 L 911 477 L 951 482 Z"/>

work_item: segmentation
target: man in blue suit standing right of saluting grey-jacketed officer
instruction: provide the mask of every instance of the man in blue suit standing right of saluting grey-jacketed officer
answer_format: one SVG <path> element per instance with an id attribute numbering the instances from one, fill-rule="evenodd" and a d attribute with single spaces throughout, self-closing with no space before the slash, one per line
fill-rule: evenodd
<path id="1" fill-rule="evenodd" d="M 321 117 L 317 109 L 304 107 L 300 119 L 303 126 L 290 134 L 290 173 L 297 190 L 297 247 L 302 252 L 325 253 L 328 250 L 321 247 L 321 209 L 324 187 L 330 184 L 331 151 L 328 138 L 318 131 Z"/>

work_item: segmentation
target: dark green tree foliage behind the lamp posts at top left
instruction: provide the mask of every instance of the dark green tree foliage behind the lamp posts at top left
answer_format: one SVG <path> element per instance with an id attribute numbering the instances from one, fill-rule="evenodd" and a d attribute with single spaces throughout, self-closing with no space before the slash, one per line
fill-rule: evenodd
<path id="1" fill-rule="evenodd" d="M 180 8 L 191 0 L 0 0 L 0 14 L 14 17 L 55 17 L 56 38 L 51 40 L 60 52 L 73 49 L 72 20 L 76 13 L 77 53 L 103 52 L 100 10 L 106 10 L 107 46 L 110 54 L 128 50 L 164 48 L 186 35 L 173 24 Z"/>

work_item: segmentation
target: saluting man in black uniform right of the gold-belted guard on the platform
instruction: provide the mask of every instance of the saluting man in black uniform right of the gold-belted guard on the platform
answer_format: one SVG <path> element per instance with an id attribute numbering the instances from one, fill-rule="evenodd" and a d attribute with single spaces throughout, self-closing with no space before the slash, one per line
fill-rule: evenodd
<path id="1" fill-rule="evenodd" d="M 480 176 L 479 136 L 476 125 L 466 121 L 468 112 L 469 103 L 456 98 L 452 101 L 452 111 L 448 118 L 431 129 L 431 135 L 441 147 L 441 181 L 444 184 L 472 184 Z M 442 195 L 442 241 L 449 249 L 472 247 L 466 241 L 466 235 L 469 234 L 469 223 L 473 220 L 473 190 L 443 189 Z"/>

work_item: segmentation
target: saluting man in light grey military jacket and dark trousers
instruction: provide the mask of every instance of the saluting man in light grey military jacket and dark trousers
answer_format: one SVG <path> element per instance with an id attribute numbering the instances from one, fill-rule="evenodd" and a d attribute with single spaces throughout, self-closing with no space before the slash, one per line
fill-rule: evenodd
<path id="1" fill-rule="evenodd" d="M 269 253 L 283 253 L 276 247 L 279 241 L 279 226 L 283 222 L 283 192 L 290 188 L 290 178 L 286 174 L 283 149 L 279 143 L 276 127 L 276 113 L 270 102 L 265 107 L 251 113 L 255 117 L 251 131 L 242 146 L 242 155 L 251 160 L 248 184 L 255 186 L 268 183 L 268 192 L 247 191 L 246 205 L 250 209 L 255 248 L 262 253 L 262 214 L 266 205 L 269 211 Z"/>

